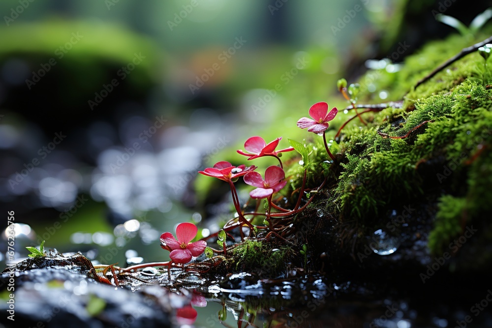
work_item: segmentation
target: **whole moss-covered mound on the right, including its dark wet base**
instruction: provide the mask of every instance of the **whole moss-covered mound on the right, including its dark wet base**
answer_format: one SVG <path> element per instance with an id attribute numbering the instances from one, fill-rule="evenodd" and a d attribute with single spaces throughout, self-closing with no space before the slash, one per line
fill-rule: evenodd
<path id="1" fill-rule="evenodd" d="M 409 56 L 396 72 L 383 68 L 361 77 L 359 103 L 377 102 L 380 90 L 393 102 L 364 114 L 367 126 L 357 119 L 345 126 L 339 142 L 330 146 L 337 164 L 327 162 L 321 138 L 313 136 L 306 187 L 316 188 L 325 178 L 326 183 L 294 218 L 287 239 L 296 246 L 285 246 L 292 252 L 284 264 L 303 267 L 299 250 L 307 243 L 307 271 L 350 274 L 361 267 L 411 267 L 418 277 L 446 252 L 451 259 L 443 272 L 491 267 L 490 252 L 479 250 L 492 238 L 492 225 L 485 219 L 492 213 L 492 61 L 478 52 L 468 54 L 414 88 L 436 66 L 485 38 L 453 35 Z M 327 135 L 334 136 L 334 125 Z M 304 168 L 292 162 L 286 166 L 289 184 L 283 193 L 295 204 Z M 396 240 L 388 253 L 394 254 L 369 257 L 377 250 L 374 236 Z M 247 240 L 235 246 L 227 262 L 233 270 L 262 268 L 270 261 L 267 254 L 282 244 L 277 241 L 265 247 Z M 289 254 L 286 249 L 283 253 Z M 277 267 L 278 259 L 271 262 L 276 273 L 288 270 Z"/>

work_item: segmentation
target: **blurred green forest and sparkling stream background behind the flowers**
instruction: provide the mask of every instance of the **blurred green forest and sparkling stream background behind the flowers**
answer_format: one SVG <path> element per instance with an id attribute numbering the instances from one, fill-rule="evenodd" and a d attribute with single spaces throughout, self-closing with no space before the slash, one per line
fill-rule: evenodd
<path id="1" fill-rule="evenodd" d="M 306 138 L 311 104 L 347 106 L 339 78 L 454 32 L 437 12 L 468 24 L 491 5 L 444 2 L 1 1 L 0 208 L 22 223 L 17 258 L 44 239 L 95 263 L 166 260 L 158 238 L 177 223 L 218 229 L 227 186 L 206 195 L 196 172 L 241 164 L 253 135 Z"/>

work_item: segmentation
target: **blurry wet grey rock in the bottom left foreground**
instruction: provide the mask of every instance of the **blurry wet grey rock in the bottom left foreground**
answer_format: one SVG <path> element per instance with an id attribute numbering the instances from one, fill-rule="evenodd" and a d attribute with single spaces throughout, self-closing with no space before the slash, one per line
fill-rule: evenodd
<path id="1" fill-rule="evenodd" d="M 15 321 L 2 316 L 0 323 L 40 328 L 170 327 L 169 309 L 154 296 L 98 282 L 90 278 L 91 269 L 82 255 L 60 253 L 6 268 L 0 295 L 14 294 Z M 7 289 L 9 284 L 13 290 Z M 5 313 L 8 304 L 2 301 L 0 309 Z"/>

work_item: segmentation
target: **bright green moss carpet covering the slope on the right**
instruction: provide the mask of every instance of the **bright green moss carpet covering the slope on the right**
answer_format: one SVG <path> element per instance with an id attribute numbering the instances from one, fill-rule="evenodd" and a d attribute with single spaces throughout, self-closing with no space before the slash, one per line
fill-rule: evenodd
<path id="1" fill-rule="evenodd" d="M 327 202 L 340 222 L 355 220 L 355 226 L 369 230 L 395 204 L 440 199 L 429 237 L 431 251 L 439 252 L 465 224 L 490 214 L 491 64 L 472 53 L 413 89 L 437 65 L 480 40 L 451 36 L 408 57 L 397 73 L 376 70 L 361 78 L 364 101 L 375 102 L 376 93 L 386 90 L 391 100 L 404 102 L 401 108 L 365 114 L 367 127 L 354 119 L 343 130 L 340 169 L 329 182 Z M 377 92 L 369 92 L 374 86 Z M 319 171 L 324 157 L 315 153 L 313 160 Z M 296 177 L 302 177 L 299 171 Z M 291 185 L 298 187 L 299 179 Z"/>

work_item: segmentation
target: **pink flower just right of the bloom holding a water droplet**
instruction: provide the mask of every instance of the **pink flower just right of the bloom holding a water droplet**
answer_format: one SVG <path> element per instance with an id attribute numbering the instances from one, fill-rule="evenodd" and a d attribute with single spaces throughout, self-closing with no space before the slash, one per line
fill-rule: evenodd
<path id="1" fill-rule="evenodd" d="M 284 180 L 285 173 L 278 166 L 268 167 L 265 171 L 265 179 L 262 179 L 258 172 L 249 172 L 244 179 L 247 184 L 257 187 L 249 193 L 249 196 L 255 199 L 270 197 L 287 184 Z"/>

